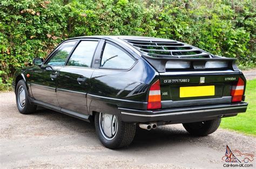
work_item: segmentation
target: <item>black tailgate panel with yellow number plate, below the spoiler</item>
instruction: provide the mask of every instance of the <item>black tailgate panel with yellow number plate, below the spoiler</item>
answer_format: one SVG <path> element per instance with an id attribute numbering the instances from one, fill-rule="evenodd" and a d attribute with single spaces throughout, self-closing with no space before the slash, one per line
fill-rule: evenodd
<path id="1" fill-rule="evenodd" d="M 162 108 L 231 103 L 231 89 L 239 72 L 194 73 L 160 73 Z"/>

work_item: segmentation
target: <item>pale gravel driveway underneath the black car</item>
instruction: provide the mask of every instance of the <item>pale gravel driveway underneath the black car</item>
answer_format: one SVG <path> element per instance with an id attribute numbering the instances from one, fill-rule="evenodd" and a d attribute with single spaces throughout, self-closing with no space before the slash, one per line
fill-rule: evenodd
<path id="1" fill-rule="evenodd" d="M 139 129 L 125 149 L 100 144 L 94 126 L 55 111 L 19 114 L 15 94 L 0 93 L 0 167 L 223 167 L 226 145 L 256 153 L 256 137 L 219 129 L 192 137 L 182 125 Z M 255 161 L 253 165 L 255 166 Z"/>

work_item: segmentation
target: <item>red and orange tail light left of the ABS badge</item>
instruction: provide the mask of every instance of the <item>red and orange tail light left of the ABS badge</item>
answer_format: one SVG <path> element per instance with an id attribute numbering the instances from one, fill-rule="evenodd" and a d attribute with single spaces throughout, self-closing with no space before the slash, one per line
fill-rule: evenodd
<path id="1" fill-rule="evenodd" d="M 150 87 L 149 100 L 147 101 L 147 109 L 161 108 L 160 81 L 157 80 Z"/>

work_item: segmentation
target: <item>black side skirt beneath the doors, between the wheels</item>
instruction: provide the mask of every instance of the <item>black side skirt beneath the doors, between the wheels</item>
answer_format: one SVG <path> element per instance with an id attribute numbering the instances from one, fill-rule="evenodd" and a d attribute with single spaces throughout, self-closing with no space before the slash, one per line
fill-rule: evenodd
<path id="1" fill-rule="evenodd" d="M 30 102 L 32 102 L 33 104 L 40 105 L 41 107 L 44 107 L 44 108 L 47 108 L 47 109 L 51 109 L 51 110 L 54 110 L 54 111 L 61 112 L 65 115 L 69 115 L 69 116 L 72 116 L 72 117 L 82 119 L 83 121 L 86 121 L 86 122 L 91 122 L 91 120 L 90 120 L 91 116 L 90 115 L 79 114 L 78 112 L 70 111 L 70 110 L 63 109 L 63 108 L 59 108 L 55 105 L 51 105 L 51 104 L 44 103 L 44 102 L 41 102 L 41 101 L 33 100 L 32 98 L 30 98 Z"/>

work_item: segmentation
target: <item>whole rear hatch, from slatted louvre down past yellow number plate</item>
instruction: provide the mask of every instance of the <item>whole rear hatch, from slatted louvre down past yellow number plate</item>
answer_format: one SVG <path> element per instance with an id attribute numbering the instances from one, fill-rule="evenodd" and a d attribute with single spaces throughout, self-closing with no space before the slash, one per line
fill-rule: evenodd
<path id="1" fill-rule="evenodd" d="M 232 102 L 240 77 L 235 59 L 173 40 L 125 40 L 159 72 L 161 108 Z"/>

